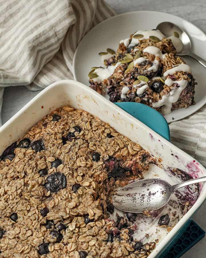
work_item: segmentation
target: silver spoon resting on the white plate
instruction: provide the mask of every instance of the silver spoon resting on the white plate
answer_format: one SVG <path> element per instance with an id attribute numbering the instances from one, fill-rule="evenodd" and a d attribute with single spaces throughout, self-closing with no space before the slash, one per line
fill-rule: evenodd
<path id="1" fill-rule="evenodd" d="M 178 32 L 179 38 L 183 43 L 183 50 L 177 54 L 180 56 L 191 56 L 206 68 L 206 61 L 192 52 L 191 41 L 184 30 L 169 21 L 164 21 L 158 24 L 157 30 L 160 30 L 163 34 L 165 34 L 166 37 L 173 36 L 173 32 Z"/>

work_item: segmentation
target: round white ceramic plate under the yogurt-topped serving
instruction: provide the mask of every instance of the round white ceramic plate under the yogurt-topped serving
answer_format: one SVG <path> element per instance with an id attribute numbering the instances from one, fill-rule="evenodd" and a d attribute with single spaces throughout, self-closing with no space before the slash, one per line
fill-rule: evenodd
<path id="1" fill-rule="evenodd" d="M 106 48 L 116 50 L 121 39 L 128 38 L 137 30 L 155 29 L 157 24 L 163 21 L 171 21 L 183 28 L 191 39 L 193 52 L 206 60 L 206 35 L 195 25 L 168 13 L 136 11 L 107 19 L 86 34 L 74 54 L 74 79 L 89 86 L 88 73 L 91 67 L 102 64 L 99 52 L 106 51 Z M 198 83 L 195 90 L 196 105 L 171 112 L 165 116 L 167 122 L 185 118 L 206 103 L 205 68 L 193 58 L 183 58 L 192 67 L 192 73 Z"/>

